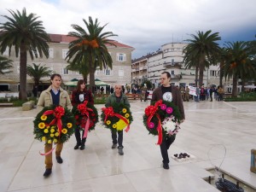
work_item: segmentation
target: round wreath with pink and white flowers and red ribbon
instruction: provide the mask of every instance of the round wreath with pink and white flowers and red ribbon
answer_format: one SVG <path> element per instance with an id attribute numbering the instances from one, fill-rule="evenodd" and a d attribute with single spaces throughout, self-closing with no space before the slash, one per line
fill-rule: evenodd
<path id="1" fill-rule="evenodd" d="M 158 135 L 158 143 L 162 143 L 162 137 L 172 137 L 177 134 L 181 113 L 173 102 L 160 100 L 153 102 L 145 108 L 143 123 L 149 134 Z"/>

